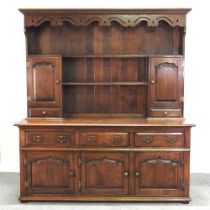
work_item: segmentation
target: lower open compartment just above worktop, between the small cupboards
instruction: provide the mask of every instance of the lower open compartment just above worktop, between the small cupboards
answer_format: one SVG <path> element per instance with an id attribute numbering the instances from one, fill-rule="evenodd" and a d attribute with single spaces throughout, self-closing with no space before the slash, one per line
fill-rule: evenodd
<path id="1" fill-rule="evenodd" d="M 103 114 L 128 117 L 130 114 L 145 116 L 147 87 L 123 85 L 65 86 L 63 98 L 65 117 L 75 117 L 79 114 L 90 114 L 89 116 L 103 116 Z"/>

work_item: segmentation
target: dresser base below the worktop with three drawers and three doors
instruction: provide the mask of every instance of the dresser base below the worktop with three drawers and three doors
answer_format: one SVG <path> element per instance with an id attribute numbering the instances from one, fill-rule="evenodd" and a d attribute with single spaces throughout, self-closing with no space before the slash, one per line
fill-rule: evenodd
<path id="1" fill-rule="evenodd" d="M 20 200 L 190 201 L 189 129 L 92 129 L 21 129 Z"/>

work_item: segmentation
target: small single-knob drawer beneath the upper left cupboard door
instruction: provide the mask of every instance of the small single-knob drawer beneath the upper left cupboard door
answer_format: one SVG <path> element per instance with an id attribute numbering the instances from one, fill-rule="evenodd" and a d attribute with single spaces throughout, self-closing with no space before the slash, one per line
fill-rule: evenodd
<path id="1" fill-rule="evenodd" d="M 30 117 L 60 117 L 61 110 L 58 108 L 31 108 Z"/>

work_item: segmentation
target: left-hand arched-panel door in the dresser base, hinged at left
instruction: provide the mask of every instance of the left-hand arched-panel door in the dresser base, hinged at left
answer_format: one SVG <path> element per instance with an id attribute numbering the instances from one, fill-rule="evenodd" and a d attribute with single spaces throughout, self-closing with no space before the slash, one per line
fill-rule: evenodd
<path id="1" fill-rule="evenodd" d="M 29 152 L 24 158 L 28 193 L 74 193 L 72 153 Z"/>

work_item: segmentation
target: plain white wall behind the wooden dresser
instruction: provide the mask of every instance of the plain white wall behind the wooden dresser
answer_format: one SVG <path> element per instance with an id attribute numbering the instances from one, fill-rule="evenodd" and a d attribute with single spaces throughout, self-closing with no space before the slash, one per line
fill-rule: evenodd
<path id="1" fill-rule="evenodd" d="M 207 0 L 7 0 L 0 7 L 0 171 L 19 171 L 18 128 L 26 117 L 23 16 L 18 8 L 192 8 L 187 16 L 185 118 L 192 129 L 191 172 L 210 173 L 210 12 Z"/>

